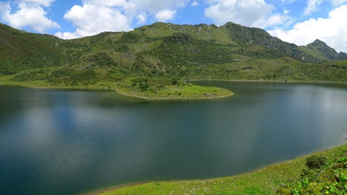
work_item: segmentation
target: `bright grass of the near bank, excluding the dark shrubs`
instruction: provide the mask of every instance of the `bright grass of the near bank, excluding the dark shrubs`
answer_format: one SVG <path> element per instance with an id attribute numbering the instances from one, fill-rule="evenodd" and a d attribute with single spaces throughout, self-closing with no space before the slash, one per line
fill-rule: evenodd
<path id="1" fill-rule="evenodd" d="M 326 178 L 328 182 L 333 183 L 335 178 L 334 174 L 329 174 L 331 172 L 328 171 L 329 169 L 341 167 L 342 173 L 346 173 L 346 167 L 338 161 L 347 157 L 347 144 L 314 155 L 322 156 L 327 160 L 326 164 L 328 165 L 323 167 L 321 172 L 327 173 L 322 177 Z M 303 170 L 307 170 L 306 162 L 307 157 L 302 157 L 239 176 L 208 180 L 153 182 L 109 188 L 106 189 L 107 192 L 105 190 L 103 192 L 101 189 L 88 194 L 300 194 L 294 191 L 294 187 L 297 187 L 298 183 L 303 180 Z M 315 182 L 315 184 L 310 185 L 311 187 L 316 186 L 318 194 L 325 193 L 325 189 L 332 186 L 332 184 L 326 184 L 325 180 L 321 180 L 321 182 L 322 184 Z M 321 187 L 325 187 L 325 189 L 321 189 Z M 303 191 L 301 194 L 312 193 Z M 341 194 L 346 194 L 346 192 L 341 192 Z"/>

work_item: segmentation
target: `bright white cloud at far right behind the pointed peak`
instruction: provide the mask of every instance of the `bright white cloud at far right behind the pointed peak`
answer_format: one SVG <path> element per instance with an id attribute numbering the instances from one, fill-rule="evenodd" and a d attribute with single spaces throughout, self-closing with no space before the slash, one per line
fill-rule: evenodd
<path id="1" fill-rule="evenodd" d="M 332 10 L 328 18 L 309 19 L 296 24 L 290 30 L 274 29 L 269 33 L 298 45 L 306 45 L 319 39 L 337 51 L 347 52 L 346 18 L 347 6 L 340 6 Z"/>

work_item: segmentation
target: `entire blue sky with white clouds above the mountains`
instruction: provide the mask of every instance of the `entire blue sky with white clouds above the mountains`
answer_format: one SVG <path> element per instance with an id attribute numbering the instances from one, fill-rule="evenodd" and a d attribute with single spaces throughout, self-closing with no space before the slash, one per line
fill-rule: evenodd
<path id="1" fill-rule="evenodd" d="M 132 31 L 154 22 L 234 22 L 297 45 L 347 52 L 347 0 L 0 0 L 0 22 L 62 39 Z"/>

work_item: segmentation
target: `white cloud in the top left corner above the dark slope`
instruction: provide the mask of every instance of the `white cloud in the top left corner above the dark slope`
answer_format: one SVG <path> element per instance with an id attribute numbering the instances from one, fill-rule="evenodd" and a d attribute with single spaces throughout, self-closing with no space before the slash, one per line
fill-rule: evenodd
<path id="1" fill-rule="evenodd" d="M 29 2 L 31 1 L 20 2 L 17 5 L 17 11 L 14 13 L 11 12 L 12 8 L 9 2 L 0 2 L 1 19 L 15 28 L 23 29 L 29 27 L 40 33 L 45 33 L 49 28 L 60 28 L 57 22 L 53 22 L 46 17 L 46 11 L 42 8 L 42 6 L 49 6 L 52 0 L 43 4 L 40 1 L 33 4 Z"/>

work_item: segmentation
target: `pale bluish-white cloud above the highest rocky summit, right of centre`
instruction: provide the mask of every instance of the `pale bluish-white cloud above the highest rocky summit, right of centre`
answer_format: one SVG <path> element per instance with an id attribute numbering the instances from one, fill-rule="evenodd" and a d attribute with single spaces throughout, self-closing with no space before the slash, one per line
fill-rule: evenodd
<path id="1" fill-rule="evenodd" d="M 264 0 L 220 0 L 205 9 L 205 17 L 218 26 L 235 22 L 261 28 L 283 24 L 289 19 L 287 15 L 273 14 L 273 10 L 273 5 Z"/>

